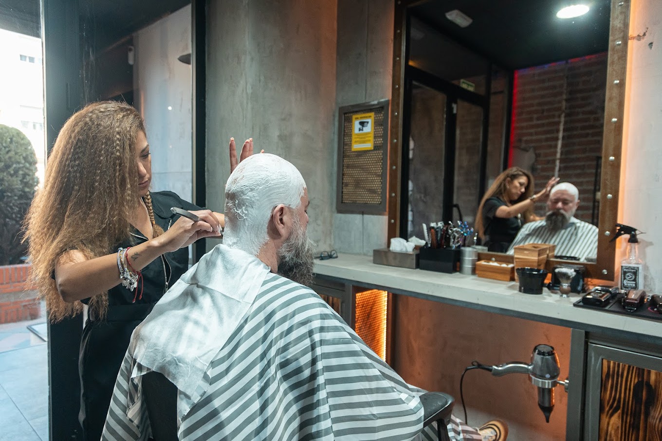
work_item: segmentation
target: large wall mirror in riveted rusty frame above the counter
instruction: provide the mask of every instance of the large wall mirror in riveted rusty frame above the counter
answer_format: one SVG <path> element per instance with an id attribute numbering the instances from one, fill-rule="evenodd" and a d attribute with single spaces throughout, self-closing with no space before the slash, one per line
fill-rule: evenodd
<path id="1" fill-rule="evenodd" d="M 536 192 L 555 174 L 577 186 L 571 221 L 593 245 L 580 253 L 563 237 L 556 254 L 596 262 L 586 265 L 591 277 L 613 276 L 630 3 L 593 0 L 567 20 L 555 17 L 560 0 L 402 3 L 391 137 L 404 142 L 390 153 L 400 191 L 399 208 L 389 202 L 389 237 L 421 237 L 422 223 L 460 216 L 473 225 L 483 194 L 517 165 Z M 559 212 L 571 214 L 559 199 Z M 540 218 L 548 211 L 536 204 Z"/>

